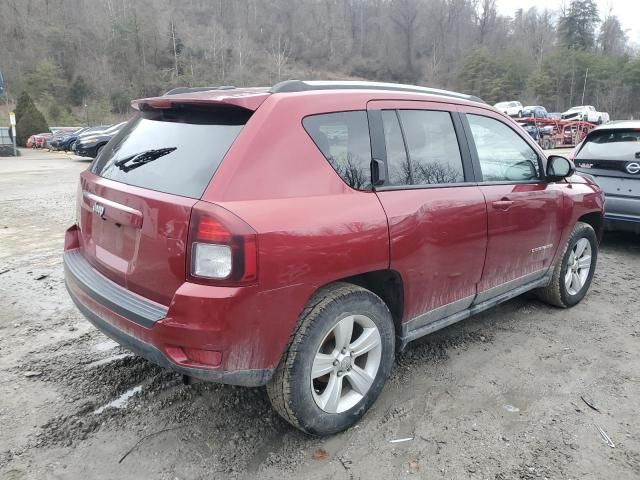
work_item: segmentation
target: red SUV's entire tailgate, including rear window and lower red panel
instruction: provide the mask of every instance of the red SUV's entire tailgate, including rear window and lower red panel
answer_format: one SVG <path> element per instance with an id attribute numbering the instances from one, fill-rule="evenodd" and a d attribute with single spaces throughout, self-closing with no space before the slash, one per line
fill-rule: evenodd
<path id="1" fill-rule="evenodd" d="M 132 119 L 81 175 L 77 221 L 87 261 L 169 305 L 186 279 L 191 207 L 251 113 L 181 105 Z"/>

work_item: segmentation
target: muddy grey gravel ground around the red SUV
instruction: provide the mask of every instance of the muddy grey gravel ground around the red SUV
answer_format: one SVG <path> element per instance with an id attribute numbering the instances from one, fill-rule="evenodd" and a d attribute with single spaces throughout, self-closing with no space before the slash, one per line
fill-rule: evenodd
<path id="1" fill-rule="evenodd" d="M 0 158 L 0 478 L 640 478 L 640 237 L 605 237 L 571 310 L 520 297 L 410 345 L 356 427 L 310 438 L 264 389 L 183 386 L 74 308 L 87 165 Z"/>

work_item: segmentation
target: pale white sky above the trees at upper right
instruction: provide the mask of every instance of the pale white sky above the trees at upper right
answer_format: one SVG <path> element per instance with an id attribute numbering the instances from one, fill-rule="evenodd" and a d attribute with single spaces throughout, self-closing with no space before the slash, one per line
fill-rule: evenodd
<path id="1" fill-rule="evenodd" d="M 537 7 L 538 10 L 548 8 L 560 10 L 562 4 L 568 4 L 569 0 L 498 0 L 498 11 L 502 15 L 513 16 L 513 13 L 523 8 Z M 604 17 L 609 10 L 616 15 L 622 23 L 622 28 L 627 31 L 629 40 L 640 44 L 640 0 L 596 0 L 600 17 Z"/>

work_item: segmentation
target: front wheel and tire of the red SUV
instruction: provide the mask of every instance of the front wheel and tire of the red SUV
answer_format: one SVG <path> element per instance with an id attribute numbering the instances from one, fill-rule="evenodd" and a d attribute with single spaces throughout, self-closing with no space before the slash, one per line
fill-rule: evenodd
<path id="1" fill-rule="evenodd" d="M 573 307 L 587 294 L 598 260 L 598 239 L 593 227 L 578 222 L 548 286 L 538 290 L 545 302 L 560 308 Z"/>

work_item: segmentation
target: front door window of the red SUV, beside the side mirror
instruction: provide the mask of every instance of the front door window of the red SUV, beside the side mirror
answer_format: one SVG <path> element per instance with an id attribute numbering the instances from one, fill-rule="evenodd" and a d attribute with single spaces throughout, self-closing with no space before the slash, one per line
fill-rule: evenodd
<path id="1" fill-rule="evenodd" d="M 485 182 L 540 178 L 538 155 L 516 132 L 493 118 L 467 115 Z"/>

